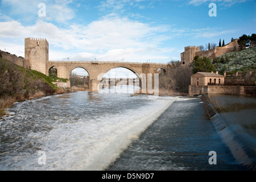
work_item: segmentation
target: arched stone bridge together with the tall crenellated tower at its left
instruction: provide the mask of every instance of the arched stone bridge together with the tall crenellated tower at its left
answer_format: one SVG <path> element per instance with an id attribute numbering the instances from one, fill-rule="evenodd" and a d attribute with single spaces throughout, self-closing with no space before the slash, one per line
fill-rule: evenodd
<path id="1" fill-rule="evenodd" d="M 167 71 L 168 64 L 156 63 L 131 63 L 131 62 L 108 62 L 108 61 L 49 61 L 49 43 L 46 39 L 26 38 L 25 59 L 30 63 L 30 68 L 49 76 L 49 69 L 55 67 L 59 78 L 68 78 L 75 68 L 84 68 L 89 74 L 89 89 L 99 90 L 99 84 L 105 73 L 113 68 L 127 68 L 140 80 L 142 93 L 147 93 L 148 88 L 154 88 L 155 73 L 159 69 Z M 158 76 L 158 75 L 156 75 Z M 70 81 L 67 87 L 70 87 Z M 146 89 L 146 91 L 145 91 Z"/>

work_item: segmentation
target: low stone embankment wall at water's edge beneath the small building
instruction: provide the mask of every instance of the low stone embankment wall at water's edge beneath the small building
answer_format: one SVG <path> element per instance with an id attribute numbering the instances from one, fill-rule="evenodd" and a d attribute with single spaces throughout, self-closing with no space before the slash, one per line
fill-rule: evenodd
<path id="1" fill-rule="evenodd" d="M 189 85 L 189 96 L 201 94 L 229 94 L 239 96 L 255 96 L 256 86 L 234 86 L 234 85 Z"/>

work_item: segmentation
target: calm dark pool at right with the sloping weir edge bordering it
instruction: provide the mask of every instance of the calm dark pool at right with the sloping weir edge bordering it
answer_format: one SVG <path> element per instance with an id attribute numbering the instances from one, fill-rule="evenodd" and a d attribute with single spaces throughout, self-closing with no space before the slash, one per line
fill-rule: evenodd
<path id="1" fill-rule="evenodd" d="M 251 123 L 256 108 L 255 97 L 251 97 L 252 101 L 250 98 L 249 101 L 246 100 L 247 97 L 229 97 L 204 95 L 202 101 L 222 142 L 228 146 L 236 162 L 246 169 L 255 170 L 256 143 L 253 129 L 255 124 Z M 243 98 L 245 101 L 242 101 Z"/>

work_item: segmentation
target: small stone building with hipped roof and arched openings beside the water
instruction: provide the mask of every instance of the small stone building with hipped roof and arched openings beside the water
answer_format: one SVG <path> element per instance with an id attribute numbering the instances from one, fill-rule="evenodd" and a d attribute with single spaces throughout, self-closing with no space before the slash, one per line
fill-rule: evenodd
<path id="1" fill-rule="evenodd" d="M 191 76 L 191 85 L 224 85 L 224 76 L 218 72 L 197 72 Z"/>

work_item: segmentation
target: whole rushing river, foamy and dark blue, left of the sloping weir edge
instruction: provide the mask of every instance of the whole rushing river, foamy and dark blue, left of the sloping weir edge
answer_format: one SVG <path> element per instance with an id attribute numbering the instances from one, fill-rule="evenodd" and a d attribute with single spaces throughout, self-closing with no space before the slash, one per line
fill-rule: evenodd
<path id="1" fill-rule="evenodd" d="M 244 169 L 200 97 L 104 90 L 15 103 L 11 116 L 0 121 L 0 169 Z M 209 164 L 209 151 L 216 151 L 217 164 Z"/>

